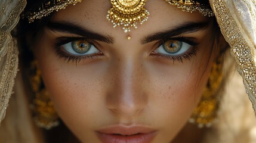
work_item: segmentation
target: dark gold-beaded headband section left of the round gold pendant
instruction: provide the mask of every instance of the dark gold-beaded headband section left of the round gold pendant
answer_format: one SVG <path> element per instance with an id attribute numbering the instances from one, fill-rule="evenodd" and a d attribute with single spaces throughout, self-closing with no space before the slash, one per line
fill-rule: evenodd
<path id="1" fill-rule="evenodd" d="M 48 16 L 53 13 L 53 11 L 63 10 L 67 5 L 75 5 L 82 0 L 48 0 L 45 1 L 39 8 L 29 8 L 27 13 L 21 14 L 21 17 L 26 17 L 29 23 L 32 23 L 36 19 L 41 19 L 42 17 Z"/>

